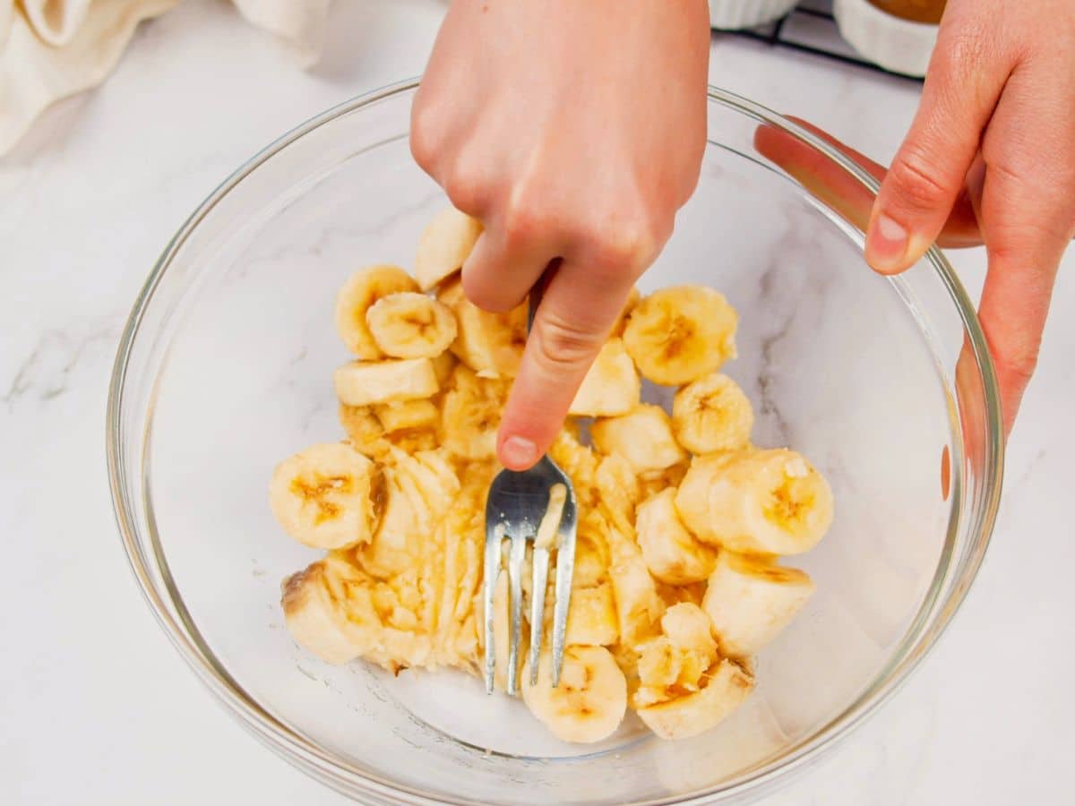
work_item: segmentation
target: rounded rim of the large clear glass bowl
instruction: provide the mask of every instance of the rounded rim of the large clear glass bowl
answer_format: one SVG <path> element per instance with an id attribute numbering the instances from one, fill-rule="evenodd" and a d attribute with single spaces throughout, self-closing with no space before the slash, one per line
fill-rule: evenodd
<path id="1" fill-rule="evenodd" d="M 458 804 L 459 806 L 478 806 L 481 802 L 465 798 L 440 800 L 431 797 L 413 788 L 398 785 L 390 780 L 371 775 L 352 765 L 342 763 L 336 757 L 324 751 L 317 744 L 302 734 L 295 728 L 285 724 L 271 713 L 266 710 L 253 696 L 246 693 L 238 680 L 235 680 L 221 664 L 216 662 L 215 656 L 209 650 L 201 639 L 198 630 L 191 623 L 182 604 L 176 605 L 177 598 L 172 580 L 167 572 L 167 564 L 160 556 L 150 557 L 143 551 L 139 542 L 139 506 L 138 502 L 128 494 L 128 473 L 123 462 L 126 441 L 123 432 L 124 403 L 127 370 L 130 364 L 132 352 L 142 319 L 146 313 L 153 297 L 160 284 L 160 280 L 171 264 L 187 238 L 209 215 L 213 207 L 235 187 L 243 178 L 253 173 L 263 162 L 286 148 L 291 143 L 298 141 L 305 134 L 326 125 L 338 117 L 349 114 L 357 110 L 374 104 L 378 101 L 410 92 L 419 85 L 419 77 L 407 78 L 401 82 L 386 85 L 373 91 L 357 96 L 344 101 L 319 115 L 316 115 L 303 124 L 295 127 L 271 144 L 254 155 L 250 159 L 240 165 L 227 178 L 225 178 L 198 207 L 184 221 L 182 227 L 169 240 L 163 251 L 154 264 L 145 284 L 135 298 L 131 313 L 127 319 L 119 345 L 116 351 L 115 362 L 111 382 L 109 386 L 109 400 L 105 416 L 105 459 L 108 465 L 109 486 L 112 494 L 113 510 L 116 518 L 116 526 L 124 545 L 125 553 L 131 572 L 138 582 L 142 596 L 149 609 L 153 611 L 157 623 L 168 636 L 172 645 L 178 651 L 187 665 L 201 679 L 205 687 L 215 697 L 228 709 L 228 711 L 239 720 L 239 722 L 263 745 L 282 755 L 300 769 L 311 775 L 320 782 L 341 792 L 342 794 L 354 796 L 355 789 L 361 789 L 370 795 L 376 795 L 388 803 L 401 804 Z M 720 89 L 713 85 L 707 89 L 707 103 L 718 103 L 730 107 L 741 114 L 758 120 L 759 123 L 774 126 L 779 130 L 804 142 L 816 150 L 820 152 L 828 159 L 841 165 L 848 174 L 854 176 L 871 193 L 876 195 L 879 183 L 858 162 L 844 155 L 832 145 L 813 134 L 805 128 L 794 124 L 772 110 L 750 101 L 742 96 L 728 90 Z M 754 769 L 741 775 L 737 778 L 725 781 L 716 787 L 705 790 L 697 790 L 682 795 L 656 798 L 639 802 L 637 806 L 664 806 L 665 804 L 702 804 L 712 802 L 714 796 L 726 797 L 741 795 L 756 791 L 765 785 L 771 785 L 777 778 L 784 778 L 792 771 L 798 771 L 815 761 L 819 754 L 833 744 L 847 737 L 858 725 L 860 725 L 878 707 L 888 702 L 909 678 L 911 673 L 918 668 L 922 659 L 929 654 L 936 646 L 941 635 L 944 634 L 950 624 L 952 617 L 959 610 L 960 605 L 970 590 L 978 568 L 980 567 L 986 549 L 997 519 L 997 512 L 1000 502 L 1004 465 L 1004 431 L 1000 409 L 1000 394 L 997 383 L 997 375 L 992 359 L 989 352 L 988 343 L 977 319 L 974 306 L 968 296 L 962 283 L 959 280 L 955 270 L 948 263 L 941 250 L 933 245 L 927 253 L 926 258 L 937 272 L 942 283 L 946 287 L 949 296 L 957 307 L 957 312 L 962 320 L 968 344 L 975 359 L 975 365 L 983 382 L 985 393 L 985 428 L 986 438 L 983 446 L 984 467 L 981 487 L 984 494 L 980 496 L 976 507 L 980 527 L 978 529 L 973 550 L 960 570 L 963 584 L 957 585 L 948 594 L 944 602 L 944 608 L 935 616 L 935 621 L 931 624 L 932 636 L 924 632 L 915 635 L 916 641 L 926 637 L 921 651 L 916 654 L 907 654 L 907 642 L 899 645 L 894 650 L 897 661 L 890 659 L 883 673 L 879 675 L 880 683 L 871 685 L 843 711 L 833 717 L 827 724 L 807 739 L 800 743 L 786 755 L 760 764 Z M 958 434 L 954 435 L 958 438 Z M 143 450 L 145 446 L 143 445 Z M 958 456 L 958 451 L 954 451 Z M 958 512 L 955 502 L 961 477 L 962 469 L 955 462 L 952 474 L 952 502 L 954 518 Z M 957 518 L 958 519 L 958 518 Z M 155 527 L 154 527 L 155 529 Z M 949 521 L 949 541 L 952 534 L 952 521 Z M 161 575 L 161 582 L 169 591 L 169 598 L 175 611 L 169 607 L 169 602 L 157 588 L 154 580 L 154 560 L 157 561 L 156 571 Z M 950 570 L 951 560 L 945 566 L 942 560 L 938 568 Z M 934 580 L 933 588 L 936 588 L 938 580 Z M 932 590 L 932 589 L 931 589 Z M 929 599 L 929 596 L 927 596 Z M 935 603 L 934 603 L 935 604 Z M 924 605 L 923 605 L 924 607 Z M 921 611 L 920 611 L 921 616 Z M 184 629 L 186 628 L 186 629 Z M 919 628 L 920 630 L 920 628 Z M 189 631 L 189 632 L 188 632 Z M 913 628 L 908 628 L 908 634 L 913 634 Z M 900 652 L 903 657 L 900 657 Z"/>

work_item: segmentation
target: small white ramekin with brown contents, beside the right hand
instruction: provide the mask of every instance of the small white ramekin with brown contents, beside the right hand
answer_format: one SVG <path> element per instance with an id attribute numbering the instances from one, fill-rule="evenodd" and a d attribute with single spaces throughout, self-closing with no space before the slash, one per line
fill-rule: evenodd
<path id="1" fill-rule="evenodd" d="M 835 0 L 833 14 L 841 35 L 865 58 L 893 73 L 926 75 L 937 26 L 901 19 L 869 0 Z"/>

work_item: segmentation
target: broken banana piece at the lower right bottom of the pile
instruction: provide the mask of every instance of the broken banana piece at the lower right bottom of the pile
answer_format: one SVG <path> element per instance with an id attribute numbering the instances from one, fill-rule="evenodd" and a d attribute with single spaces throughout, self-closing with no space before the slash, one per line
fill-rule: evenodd
<path id="1" fill-rule="evenodd" d="M 715 728 L 754 691 L 754 675 L 730 660 L 701 679 L 699 691 L 639 708 L 642 721 L 664 739 L 698 736 Z"/>

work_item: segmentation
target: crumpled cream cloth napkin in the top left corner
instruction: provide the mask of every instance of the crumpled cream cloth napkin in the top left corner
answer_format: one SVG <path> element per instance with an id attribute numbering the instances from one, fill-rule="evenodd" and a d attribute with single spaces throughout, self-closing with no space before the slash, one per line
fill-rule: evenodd
<path id="1" fill-rule="evenodd" d="M 234 0 L 303 66 L 317 59 L 330 0 Z M 0 155 L 49 104 L 96 87 L 138 24 L 180 0 L 0 0 Z"/>

